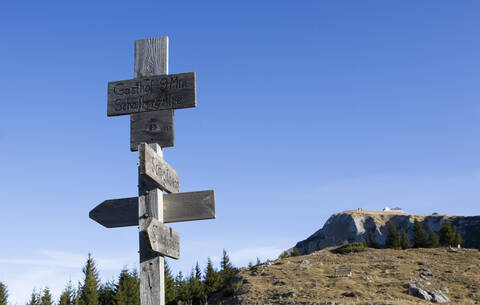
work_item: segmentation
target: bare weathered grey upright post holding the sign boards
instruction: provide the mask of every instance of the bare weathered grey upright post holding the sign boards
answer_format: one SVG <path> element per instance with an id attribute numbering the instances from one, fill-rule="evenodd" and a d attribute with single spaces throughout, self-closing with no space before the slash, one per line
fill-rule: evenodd
<path id="1" fill-rule="evenodd" d="M 168 37 L 135 41 L 135 78 L 168 73 Z M 166 110 L 173 111 L 173 110 Z M 154 116 L 139 113 L 135 116 Z M 173 116 L 173 115 L 172 115 Z M 132 120 L 134 117 L 132 116 Z M 162 148 L 150 144 L 163 158 Z M 163 222 L 163 194 L 138 170 L 138 223 L 140 240 L 140 304 L 165 305 L 165 258 L 151 251 L 142 232 L 147 217 Z M 146 215 L 148 214 L 148 215 Z"/>

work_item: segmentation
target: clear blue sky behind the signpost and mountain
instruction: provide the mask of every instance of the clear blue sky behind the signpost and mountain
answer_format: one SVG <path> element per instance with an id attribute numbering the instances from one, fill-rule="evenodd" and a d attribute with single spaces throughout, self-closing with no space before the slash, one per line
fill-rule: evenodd
<path id="1" fill-rule="evenodd" d="M 170 37 L 197 73 L 165 159 L 182 191 L 215 189 L 217 219 L 172 224 L 175 272 L 223 248 L 275 258 L 333 213 L 400 206 L 478 215 L 478 1 L 2 1 L 0 281 L 23 305 L 137 267 L 137 229 L 88 218 L 137 193 L 128 116 L 107 82 L 136 39 Z"/>

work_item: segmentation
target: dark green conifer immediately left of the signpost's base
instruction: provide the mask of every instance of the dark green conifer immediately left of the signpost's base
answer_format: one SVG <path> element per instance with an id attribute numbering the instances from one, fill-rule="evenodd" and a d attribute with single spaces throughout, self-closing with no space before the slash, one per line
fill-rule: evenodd
<path id="1" fill-rule="evenodd" d="M 124 268 L 120 272 L 115 301 L 117 305 L 140 305 L 140 281 L 135 270 L 129 273 Z"/>

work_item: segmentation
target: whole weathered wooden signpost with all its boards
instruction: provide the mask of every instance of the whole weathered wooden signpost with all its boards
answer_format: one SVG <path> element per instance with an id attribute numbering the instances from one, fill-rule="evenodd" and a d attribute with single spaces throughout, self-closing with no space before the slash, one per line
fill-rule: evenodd
<path id="1" fill-rule="evenodd" d="M 180 235 L 164 223 L 215 218 L 214 191 L 179 193 L 178 174 L 163 159 L 162 147 L 173 146 L 173 109 L 196 103 L 195 73 L 168 74 L 166 36 L 135 41 L 134 79 L 108 83 L 107 115 L 131 115 L 138 197 L 106 200 L 89 216 L 107 228 L 138 225 L 141 305 L 165 304 L 164 256 L 180 257 Z"/>

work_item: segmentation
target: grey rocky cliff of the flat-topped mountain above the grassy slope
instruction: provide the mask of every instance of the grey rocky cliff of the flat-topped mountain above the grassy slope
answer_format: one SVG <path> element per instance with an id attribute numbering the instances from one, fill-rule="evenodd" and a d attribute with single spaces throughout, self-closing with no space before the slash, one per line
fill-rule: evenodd
<path id="1" fill-rule="evenodd" d="M 457 227 L 465 240 L 465 248 L 480 249 L 480 216 L 463 217 L 451 215 L 417 215 L 404 212 L 376 212 L 366 210 L 346 211 L 332 215 L 322 229 L 295 245 L 302 254 L 309 254 L 323 248 L 339 246 L 345 243 L 368 241 L 373 231 L 379 246 L 384 246 L 387 238 L 387 222 L 391 220 L 397 228 L 405 227 L 410 240 L 413 240 L 413 222 L 423 222 L 425 229 L 440 231 L 445 221 Z"/>

